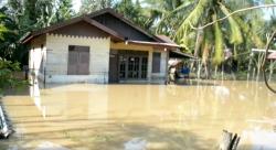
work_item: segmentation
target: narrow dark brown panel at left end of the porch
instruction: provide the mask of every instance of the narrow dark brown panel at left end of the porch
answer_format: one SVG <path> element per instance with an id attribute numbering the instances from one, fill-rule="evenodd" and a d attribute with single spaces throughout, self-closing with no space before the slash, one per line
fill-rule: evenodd
<path id="1" fill-rule="evenodd" d="M 109 54 L 109 83 L 118 83 L 118 52 L 110 50 Z"/>

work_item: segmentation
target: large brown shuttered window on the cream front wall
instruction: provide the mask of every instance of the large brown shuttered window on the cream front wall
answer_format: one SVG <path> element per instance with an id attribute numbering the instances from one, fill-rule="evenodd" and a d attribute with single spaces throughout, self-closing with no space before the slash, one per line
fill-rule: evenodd
<path id="1" fill-rule="evenodd" d="M 89 74 L 89 46 L 68 46 L 68 75 Z"/>

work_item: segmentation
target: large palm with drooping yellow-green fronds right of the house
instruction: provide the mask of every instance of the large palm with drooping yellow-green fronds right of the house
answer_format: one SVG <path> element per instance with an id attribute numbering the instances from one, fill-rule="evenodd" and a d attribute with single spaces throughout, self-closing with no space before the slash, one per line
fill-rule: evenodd
<path id="1" fill-rule="evenodd" d="M 241 26 L 233 17 L 227 18 L 227 22 L 215 22 L 214 24 L 200 28 L 202 24 L 215 21 L 221 17 L 229 15 L 231 10 L 221 0 L 198 0 L 193 11 L 183 19 L 176 34 L 179 41 L 185 49 L 190 49 L 189 43 L 202 36 L 202 40 L 197 40 L 194 50 L 195 56 L 202 49 L 203 63 L 206 63 L 209 54 L 214 50 L 213 63 L 220 64 L 224 58 L 224 47 L 226 45 L 238 45 L 243 42 Z M 199 29 L 195 29 L 199 28 Z M 194 38 L 194 32 L 197 36 Z M 201 33 L 201 34 L 199 34 Z M 225 36 L 227 35 L 227 36 Z M 225 42 L 229 41 L 229 42 Z M 214 46 L 213 46 L 214 45 Z"/>

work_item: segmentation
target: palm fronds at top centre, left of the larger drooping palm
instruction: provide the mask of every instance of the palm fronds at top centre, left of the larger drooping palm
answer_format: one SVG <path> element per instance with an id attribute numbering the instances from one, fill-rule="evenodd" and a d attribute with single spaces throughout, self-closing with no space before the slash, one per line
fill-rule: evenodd
<path id="1" fill-rule="evenodd" d="M 192 10 L 193 0 L 142 0 L 156 34 L 173 38 L 183 17 Z"/>

